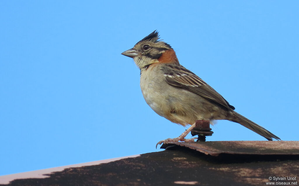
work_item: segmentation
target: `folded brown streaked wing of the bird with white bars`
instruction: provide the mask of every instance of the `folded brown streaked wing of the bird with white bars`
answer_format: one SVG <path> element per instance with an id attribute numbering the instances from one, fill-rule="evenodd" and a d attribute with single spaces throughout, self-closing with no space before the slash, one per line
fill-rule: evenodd
<path id="1" fill-rule="evenodd" d="M 231 106 L 205 81 L 182 65 L 167 64 L 162 67 L 162 71 L 164 71 L 166 81 L 170 85 L 181 87 L 182 89 L 198 94 L 226 108 L 235 109 L 234 106 Z"/>

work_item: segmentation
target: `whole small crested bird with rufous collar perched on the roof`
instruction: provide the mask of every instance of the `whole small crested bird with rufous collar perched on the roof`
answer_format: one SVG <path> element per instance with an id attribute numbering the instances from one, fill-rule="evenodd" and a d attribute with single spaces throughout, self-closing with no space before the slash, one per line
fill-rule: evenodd
<path id="1" fill-rule="evenodd" d="M 157 143 L 192 142 L 185 139 L 197 120 L 228 120 L 245 126 L 269 141 L 279 137 L 237 113 L 218 92 L 200 77 L 179 63 L 176 52 L 160 39 L 157 30 L 137 42 L 133 48 L 121 53 L 133 58 L 140 69 L 140 87 L 146 103 L 167 120 L 189 126 L 177 138 Z M 273 139 L 272 139 L 273 138 Z M 156 147 L 157 147 L 156 145 Z"/>

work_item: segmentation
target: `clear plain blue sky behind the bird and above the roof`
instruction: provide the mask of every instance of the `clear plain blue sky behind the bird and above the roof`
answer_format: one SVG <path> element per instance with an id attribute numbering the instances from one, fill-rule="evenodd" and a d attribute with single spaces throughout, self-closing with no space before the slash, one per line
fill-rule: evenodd
<path id="1" fill-rule="evenodd" d="M 236 111 L 298 140 L 298 1 L 0 1 L 0 175 L 156 152 L 184 127 L 120 53 L 154 30 Z M 210 141 L 265 140 L 218 121 Z"/>

